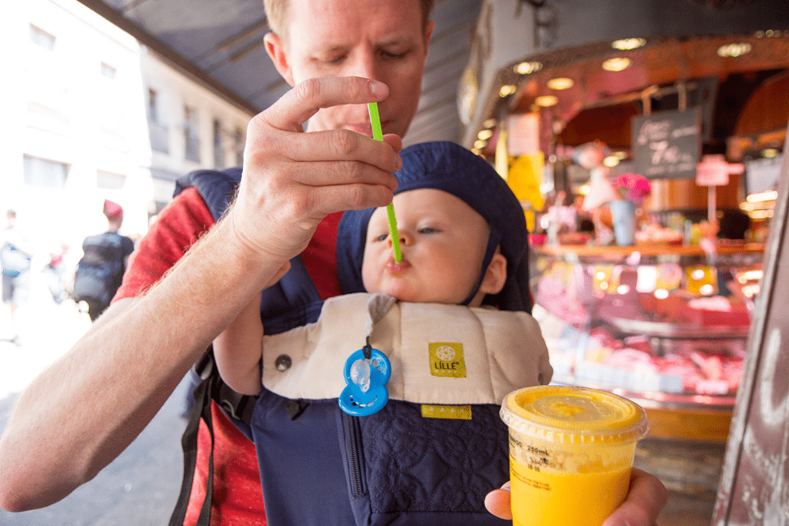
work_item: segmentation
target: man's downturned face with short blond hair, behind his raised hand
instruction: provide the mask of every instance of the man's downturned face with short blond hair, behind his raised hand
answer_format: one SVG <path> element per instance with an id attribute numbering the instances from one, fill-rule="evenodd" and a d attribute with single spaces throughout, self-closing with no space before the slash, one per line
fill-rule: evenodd
<path id="1" fill-rule="evenodd" d="M 380 80 L 384 133 L 403 136 L 417 111 L 427 42 L 417 0 L 290 0 L 284 73 L 292 85 L 325 76 Z M 335 106 L 309 121 L 311 131 L 351 129 L 372 136 L 367 106 Z"/>

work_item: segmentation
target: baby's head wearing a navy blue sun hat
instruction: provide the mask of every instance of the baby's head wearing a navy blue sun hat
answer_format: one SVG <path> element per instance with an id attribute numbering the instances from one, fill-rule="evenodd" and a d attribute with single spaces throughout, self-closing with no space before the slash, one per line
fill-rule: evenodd
<path id="1" fill-rule="evenodd" d="M 416 144 L 401 157 L 403 167 L 394 174 L 399 182 L 394 206 L 406 265 L 398 267 L 390 257 L 383 209 L 346 211 L 337 241 L 342 292 L 380 291 L 403 300 L 465 300 L 471 305 L 482 292 L 483 303 L 530 311 L 528 232 L 522 207 L 507 183 L 488 162 L 457 144 Z M 413 248 L 417 245 L 426 247 L 424 252 Z M 412 268 L 425 262 L 432 265 L 424 267 L 429 273 Z M 410 274 L 413 279 L 406 280 Z M 414 286 L 423 290 L 415 292 Z M 428 290 L 443 296 L 416 295 Z"/>

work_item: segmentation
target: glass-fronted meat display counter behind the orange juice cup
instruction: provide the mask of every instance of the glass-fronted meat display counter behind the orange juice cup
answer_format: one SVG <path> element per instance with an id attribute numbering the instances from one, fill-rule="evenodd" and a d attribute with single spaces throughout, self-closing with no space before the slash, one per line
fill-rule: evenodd
<path id="1" fill-rule="evenodd" d="M 762 244 L 533 247 L 553 382 L 638 402 L 636 465 L 714 495 L 761 278 Z"/>

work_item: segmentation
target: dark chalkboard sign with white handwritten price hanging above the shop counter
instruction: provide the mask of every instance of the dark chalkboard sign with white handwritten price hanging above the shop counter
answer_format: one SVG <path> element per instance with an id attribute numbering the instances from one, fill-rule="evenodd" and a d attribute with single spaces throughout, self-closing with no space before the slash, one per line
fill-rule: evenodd
<path id="1" fill-rule="evenodd" d="M 701 108 L 660 111 L 630 121 L 633 167 L 649 179 L 695 178 L 701 154 Z"/>

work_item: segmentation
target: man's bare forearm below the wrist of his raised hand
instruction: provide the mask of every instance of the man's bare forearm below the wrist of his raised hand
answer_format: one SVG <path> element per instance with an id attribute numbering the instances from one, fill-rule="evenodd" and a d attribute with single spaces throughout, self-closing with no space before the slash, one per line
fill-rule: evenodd
<path id="1" fill-rule="evenodd" d="M 280 267 L 220 222 L 147 294 L 114 304 L 21 394 L 0 438 L 0 505 L 49 505 L 92 479 Z"/>

